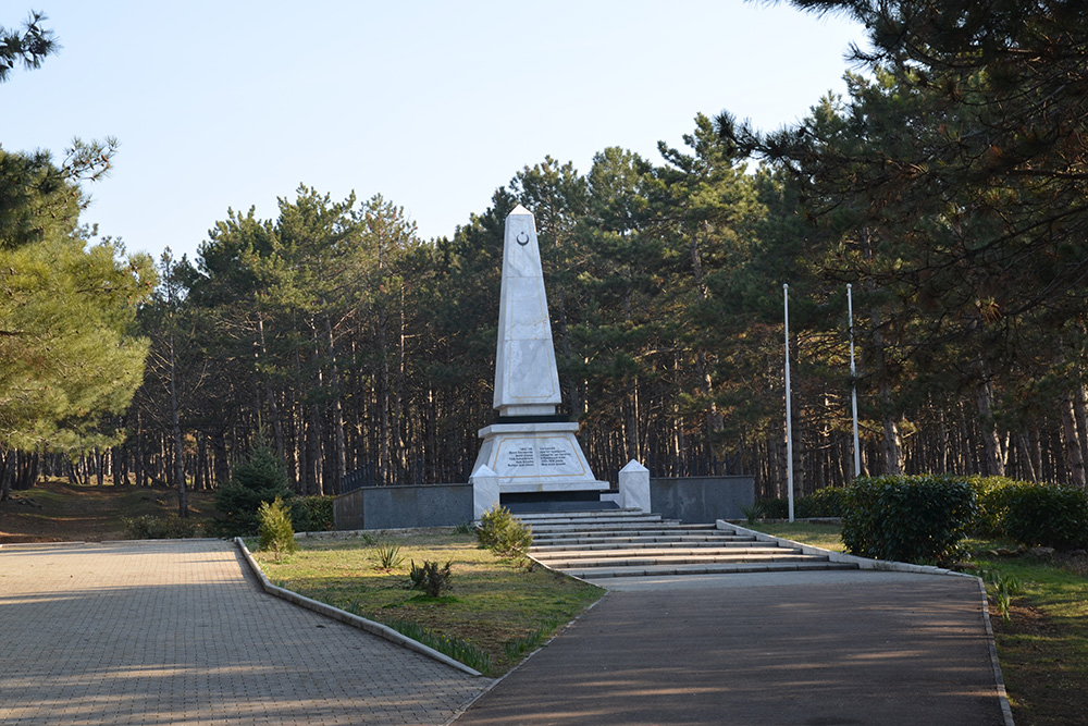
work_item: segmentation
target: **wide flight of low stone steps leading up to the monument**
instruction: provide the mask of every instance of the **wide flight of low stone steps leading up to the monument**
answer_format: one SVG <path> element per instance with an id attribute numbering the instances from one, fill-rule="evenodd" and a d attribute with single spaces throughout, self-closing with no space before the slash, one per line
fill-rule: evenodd
<path id="1" fill-rule="evenodd" d="M 715 525 L 629 509 L 517 516 L 533 529 L 534 559 L 582 579 L 854 568 Z"/>

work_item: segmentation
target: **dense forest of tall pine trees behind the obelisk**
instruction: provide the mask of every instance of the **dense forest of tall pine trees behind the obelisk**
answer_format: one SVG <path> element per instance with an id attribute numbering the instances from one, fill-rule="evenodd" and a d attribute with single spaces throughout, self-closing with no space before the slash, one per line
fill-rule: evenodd
<path id="1" fill-rule="evenodd" d="M 491 422 L 503 222 L 535 214 L 564 413 L 595 473 L 786 481 L 790 285 L 796 485 L 864 473 L 1085 485 L 1088 11 L 796 2 L 870 29 L 846 98 L 762 134 L 698 116 L 660 159 L 546 158 L 452 237 L 381 196 L 300 186 L 159 261 L 112 445 L 5 441 L 7 476 L 213 488 L 258 443 L 296 491 L 466 481 Z M 1046 8 L 1043 8 L 1046 5 Z M 857 376 L 851 380 L 846 285 Z M 61 451 L 57 451 L 61 448 Z M 52 452 L 52 453 L 50 453 Z M 72 457 L 75 456 L 73 459 Z"/>

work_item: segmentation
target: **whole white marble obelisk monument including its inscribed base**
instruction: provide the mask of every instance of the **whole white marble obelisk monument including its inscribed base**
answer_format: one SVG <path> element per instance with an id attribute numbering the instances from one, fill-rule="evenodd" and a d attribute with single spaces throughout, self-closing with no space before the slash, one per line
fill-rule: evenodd
<path id="1" fill-rule="evenodd" d="M 590 470 L 578 423 L 555 416 L 559 374 L 536 225 L 521 205 L 506 218 L 494 401 L 499 418 L 480 429 L 474 481 L 497 481 L 499 493 L 608 489 Z"/>

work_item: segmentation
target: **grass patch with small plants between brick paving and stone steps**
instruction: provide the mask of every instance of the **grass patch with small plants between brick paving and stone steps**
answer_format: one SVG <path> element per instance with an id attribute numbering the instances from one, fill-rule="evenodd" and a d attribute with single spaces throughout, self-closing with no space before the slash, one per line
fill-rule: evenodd
<path id="1" fill-rule="evenodd" d="M 552 570 L 519 567 L 477 546 L 472 534 L 398 532 L 383 534 L 383 540 L 398 545 L 406 558 L 450 563 L 457 596 L 406 590 L 405 574 L 375 569 L 375 545 L 361 539 L 306 540 L 282 564 L 256 556 L 284 588 L 391 627 L 413 623 L 437 638 L 468 643 L 487 656 L 486 669 L 472 667 L 491 676 L 521 660 L 524 649 L 508 654 L 507 643 L 551 637 L 558 627 L 553 624 L 570 622 L 604 594 Z"/>

